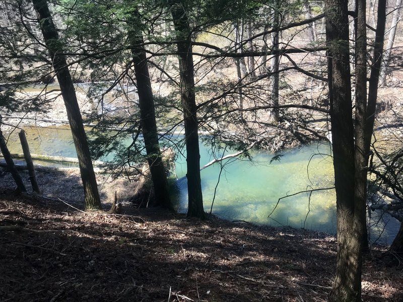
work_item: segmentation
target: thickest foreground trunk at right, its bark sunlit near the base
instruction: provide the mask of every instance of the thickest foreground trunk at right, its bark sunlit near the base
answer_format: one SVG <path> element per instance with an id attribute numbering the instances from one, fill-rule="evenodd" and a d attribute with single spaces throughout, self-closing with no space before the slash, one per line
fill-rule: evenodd
<path id="1" fill-rule="evenodd" d="M 352 118 L 348 0 L 326 0 L 326 42 L 334 185 L 337 204 L 337 271 L 331 302 L 361 301 L 361 228 L 354 198 L 354 126 Z"/>

